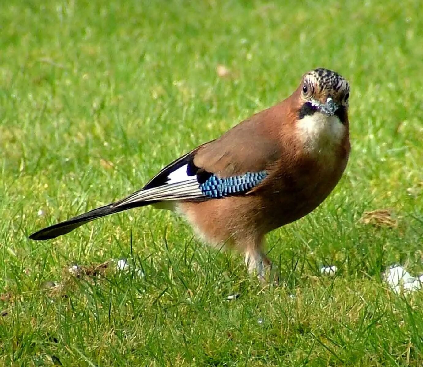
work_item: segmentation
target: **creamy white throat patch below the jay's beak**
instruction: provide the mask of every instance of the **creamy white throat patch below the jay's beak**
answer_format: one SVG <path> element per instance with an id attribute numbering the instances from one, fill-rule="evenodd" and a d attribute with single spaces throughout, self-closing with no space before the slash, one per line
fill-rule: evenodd
<path id="1" fill-rule="evenodd" d="M 303 117 L 298 122 L 298 132 L 304 149 L 312 155 L 331 155 L 341 144 L 346 127 L 338 116 L 321 112 Z"/>

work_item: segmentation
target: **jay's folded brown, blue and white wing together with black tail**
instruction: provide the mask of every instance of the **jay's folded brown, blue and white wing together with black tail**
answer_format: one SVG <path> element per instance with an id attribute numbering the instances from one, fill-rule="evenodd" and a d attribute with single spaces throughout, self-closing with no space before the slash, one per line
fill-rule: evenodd
<path id="1" fill-rule="evenodd" d="M 43 228 L 30 238 L 55 238 L 91 220 L 160 201 L 210 200 L 258 189 L 280 154 L 272 134 L 263 133 L 261 120 L 255 115 L 195 148 L 126 198 Z"/>

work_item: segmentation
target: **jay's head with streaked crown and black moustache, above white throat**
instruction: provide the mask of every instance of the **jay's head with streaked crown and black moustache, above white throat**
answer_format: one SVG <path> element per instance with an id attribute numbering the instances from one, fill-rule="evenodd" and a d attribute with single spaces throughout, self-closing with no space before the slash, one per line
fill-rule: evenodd
<path id="1" fill-rule="evenodd" d="M 335 71 L 317 68 L 305 73 L 297 90 L 298 118 L 320 113 L 347 121 L 349 83 Z"/>

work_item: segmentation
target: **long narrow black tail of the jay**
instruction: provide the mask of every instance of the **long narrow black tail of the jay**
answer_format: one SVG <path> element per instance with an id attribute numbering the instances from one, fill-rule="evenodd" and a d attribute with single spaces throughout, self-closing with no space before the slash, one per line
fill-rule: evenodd
<path id="1" fill-rule="evenodd" d="M 77 215 L 71 219 L 65 220 L 64 222 L 60 222 L 54 224 L 53 226 L 49 226 L 47 228 L 40 229 L 39 231 L 30 235 L 30 239 L 36 240 L 45 240 L 45 239 L 52 239 L 63 234 L 69 233 L 73 231 L 75 228 L 82 226 L 85 223 L 91 222 L 91 220 L 95 220 L 97 218 L 105 217 L 106 215 L 115 214 L 118 212 L 122 212 L 127 209 L 135 208 L 135 207 L 143 207 L 145 205 L 154 204 L 154 201 L 137 201 L 133 203 L 129 203 L 126 205 L 116 206 L 119 202 L 113 204 L 104 205 L 104 207 L 99 207 L 89 212 L 86 212 L 81 215 Z"/>

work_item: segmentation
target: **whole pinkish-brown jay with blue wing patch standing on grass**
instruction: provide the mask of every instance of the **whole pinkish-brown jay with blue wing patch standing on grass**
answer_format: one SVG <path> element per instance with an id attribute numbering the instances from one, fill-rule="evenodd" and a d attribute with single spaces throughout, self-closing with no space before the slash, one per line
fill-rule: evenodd
<path id="1" fill-rule="evenodd" d="M 154 205 L 184 215 L 206 242 L 245 254 L 264 279 L 264 236 L 314 210 L 338 183 L 350 151 L 349 83 L 316 68 L 284 101 L 174 160 L 141 190 L 41 229 L 30 239 L 66 234 L 91 220 Z"/>

